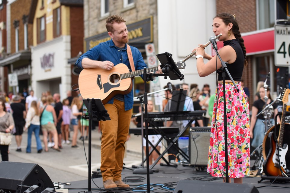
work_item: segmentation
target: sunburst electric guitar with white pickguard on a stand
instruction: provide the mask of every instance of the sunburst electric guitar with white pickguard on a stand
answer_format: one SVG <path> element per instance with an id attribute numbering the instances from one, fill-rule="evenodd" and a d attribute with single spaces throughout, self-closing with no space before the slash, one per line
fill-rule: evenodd
<path id="1" fill-rule="evenodd" d="M 277 139 L 277 143 L 274 137 L 274 132 L 269 133 L 270 151 L 268 153 L 268 156 L 265 160 L 265 164 L 263 166 L 264 172 L 267 176 L 279 176 L 279 175 L 283 175 L 285 173 L 290 172 L 286 168 L 286 160 L 285 160 L 285 156 L 288 151 L 288 144 L 284 143 L 283 145 L 284 128 L 285 128 L 285 112 L 286 112 L 289 93 L 290 93 L 290 90 L 286 89 L 283 99 L 282 99 L 283 110 L 282 110 L 280 132 Z"/>

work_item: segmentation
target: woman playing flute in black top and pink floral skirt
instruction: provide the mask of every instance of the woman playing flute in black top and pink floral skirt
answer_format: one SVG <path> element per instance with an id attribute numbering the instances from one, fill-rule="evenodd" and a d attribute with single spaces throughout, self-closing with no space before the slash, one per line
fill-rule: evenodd
<path id="1" fill-rule="evenodd" d="M 207 172 L 214 177 L 226 176 L 225 156 L 229 157 L 229 182 L 242 183 L 243 177 L 250 175 L 250 113 L 249 103 L 240 81 L 244 66 L 247 65 L 246 48 L 241 37 L 236 15 L 221 13 L 213 19 L 213 32 L 222 34 L 218 40 L 223 41 L 224 47 L 219 55 L 224 62 L 228 62 L 227 69 L 237 84 L 239 92 L 232 84 L 226 73 L 226 115 L 227 115 L 227 141 L 224 143 L 224 98 L 222 73 L 217 71 L 222 67 L 221 61 L 215 55 L 212 57 L 205 53 L 204 46 L 199 44 L 196 51 L 196 66 L 200 77 L 205 77 L 217 71 L 218 88 L 214 99 L 214 110 L 211 122 L 210 148 Z M 209 60 L 206 65 L 204 59 Z M 217 124 L 216 124 L 217 123 Z M 218 133 L 217 133 L 218 132 Z M 228 152 L 225 152 L 225 145 Z"/>

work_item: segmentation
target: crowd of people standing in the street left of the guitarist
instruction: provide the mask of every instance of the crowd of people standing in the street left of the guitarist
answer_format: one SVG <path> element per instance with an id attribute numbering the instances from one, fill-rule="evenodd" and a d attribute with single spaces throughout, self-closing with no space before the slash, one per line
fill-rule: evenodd
<path id="1" fill-rule="evenodd" d="M 37 153 L 51 150 L 61 151 L 63 144 L 71 144 L 72 148 L 77 146 L 77 138 L 80 133 L 80 140 L 88 139 L 88 127 L 82 121 L 82 115 L 87 113 L 83 105 L 80 93 L 72 97 L 71 91 L 60 101 L 60 94 L 50 91 L 43 92 L 40 98 L 34 96 L 34 91 L 29 94 L 23 93 L 6 96 L 5 92 L 0 93 L 0 132 L 11 133 L 15 137 L 17 152 L 22 152 L 22 134 L 27 131 L 26 153 L 31 153 L 31 138 L 34 133 Z M 26 97 L 24 97 L 26 95 Z M 88 122 L 88 120 L 84 120 Z M 71 126 L 71 127 L 70 127 Z M 8 129 L 9 128 L 9 129 Z M 70 136 L 70 128 L 72 136 Z M 86 137 L 83 134 L 86 130 Z M 9 131 L 9 132 L 8 132 Z M 42 137 L 41 137 L 42 135 Z M 69 138 L 72 138 L 70 141 Z M 40 139 L 42 138 L 42 140 Z M 43 141 L 43 145 L 41 144 Z M 8 161 L 8 145 L 0 145 L 3 161 Z"/>

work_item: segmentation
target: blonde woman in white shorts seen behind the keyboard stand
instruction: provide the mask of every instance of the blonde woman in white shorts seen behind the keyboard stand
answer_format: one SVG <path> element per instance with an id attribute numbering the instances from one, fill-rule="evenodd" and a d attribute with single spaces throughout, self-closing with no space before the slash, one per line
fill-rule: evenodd
<path id="1" fill-rule="evenodd" d="M 141 113 L 141 108 L 140 108 L 140 111 L 139 111 L 140 113 Z M 154 103 L 153 103 L 153 101 L 152 100 L 148 100 L 148 102 L 147 102 L 147 112 L 157 112 L 156 110 L 155 110 L 155 105 L 154 105 Z M 133 119 L 133 122 L 134 122 L 134 124 L 137 126 L 137 127 L 139 127 L 139 128 L 141 128 L 141 119 L 140 120 L 137 120 L 137 119 Z M 154 125 L 155 126 L 163 126 L 163 122 L 154 122 Z M 145 122 L 143 122 L 143 128 L 145 128 Z M 150 124 L 149 124 L 149 122 L 148 122 L 148 127 L 150 126 Z M 159 139 L 161 138 L 161 135 L 148 135 L 148 140 L 154 145 L 154 146 L 156 146 L 156 149 L 158 150 L 158 151 L 160 151 L 160 148 L 161 148 L 161 145 L 162 145 L 162 143 L 161 143 L 161 141 L 157 144 L 157 142 L 159 141 Z M 143 139 L 143 148 L 144 148 L 144 153 L 145 153 L 145 155 L 146 155 L 146 140 L 145 140 L 145 138 Z M 149 144 L 149 152 L 151 151 L 151 149 L 152 149 L 152 147 L 151 147 L 151 145 Z M 152 153 L 151 153 L 151 155 L 149 156 L 149 165 L 152 165 L 152 163 L 153 163 L 153 160 L 155 161 L 155 160 L 157 160 L 157 158 L 159 157 L 159 154 L 156 152 L 156 151 L 153 151 Z"/>

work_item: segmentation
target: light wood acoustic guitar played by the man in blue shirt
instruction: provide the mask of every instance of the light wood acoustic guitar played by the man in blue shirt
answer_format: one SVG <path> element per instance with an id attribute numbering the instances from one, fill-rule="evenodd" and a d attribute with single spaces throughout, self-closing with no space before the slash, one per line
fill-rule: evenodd
<path id="1" fill-rule="evenodd" d="M 178 68 L 185 68 L 185 63 L 176 62 Z M 146 73 L 158 71 L 158 66 L 146 68 Z M 111 70 L 102 68 L 82 69 L 79 74 L 79 92 L 84 99 L 101 99 L 103 104 L 116 94 L 128 94 L 132 90 L 132 78 L 144 74 L 144 69 L 129 71 L 127 65 L 120 63 Z"/>

